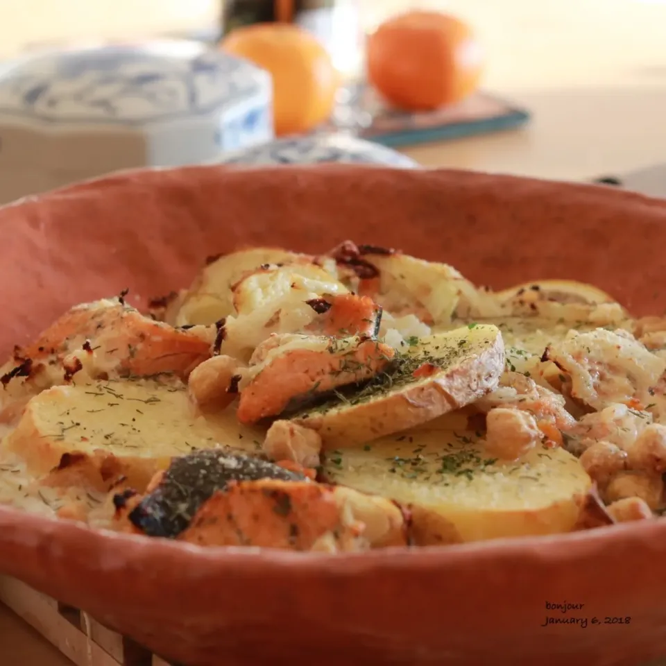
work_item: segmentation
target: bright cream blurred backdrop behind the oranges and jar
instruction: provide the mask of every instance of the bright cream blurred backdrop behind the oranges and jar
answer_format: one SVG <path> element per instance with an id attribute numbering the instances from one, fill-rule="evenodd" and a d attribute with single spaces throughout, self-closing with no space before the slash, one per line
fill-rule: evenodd
<path id="1" fill-rule="evenodd" d="M 665 0 L 357 1 L 368 27 L 418 6 L 469 19 L 498 89 L 666 82 Z M 198 28 L 218 14 L 219 0 L 0 0 L 0 58 L 37 42 Z"/>

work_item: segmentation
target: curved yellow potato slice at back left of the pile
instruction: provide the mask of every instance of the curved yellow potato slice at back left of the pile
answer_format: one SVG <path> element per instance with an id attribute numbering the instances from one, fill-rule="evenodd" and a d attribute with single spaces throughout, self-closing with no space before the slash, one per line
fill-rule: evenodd
<path id="1" fill-rule="evenodd" d="M 262 264 L 293 262 L 304 257 L 280 248 L 250 248 L 213 257 L 180 298 L 176 325 L 213 324 L 233 312 L 231 287 Z"/>

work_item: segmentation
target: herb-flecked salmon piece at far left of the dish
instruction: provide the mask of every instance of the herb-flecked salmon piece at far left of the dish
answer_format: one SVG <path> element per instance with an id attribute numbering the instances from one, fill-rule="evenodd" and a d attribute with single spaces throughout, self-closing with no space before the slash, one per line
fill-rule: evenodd
<path id="1" fill-rule="evenodd" d="M 94 355 L 94 365 L 108 375 L 187 375 L 210 357 L 213 338 L 213 327 L 178 329 L 144 316 L 122 297 L 98 300 L 73 307 L 37 341 L 17 348 L 3 372 L 11 373 L 25 359 L 36 369 L 40 361 L 58 365 L 72 352 L 80 352 L 82 357 Z"/>

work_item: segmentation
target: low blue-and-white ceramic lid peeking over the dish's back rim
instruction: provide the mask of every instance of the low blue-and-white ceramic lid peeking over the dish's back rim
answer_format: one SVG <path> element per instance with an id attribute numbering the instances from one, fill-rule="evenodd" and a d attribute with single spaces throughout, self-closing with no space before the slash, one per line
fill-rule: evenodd
<path id="1" fill-rule="evenodd" d="M 270 165 L 346 162 L 351 164 L 384 164 L 390 167 L 416 169 L 419 165 L 407 155 L 343 133 L 287 137 L 273 142 L 223 155 L 221 164 Z"/>

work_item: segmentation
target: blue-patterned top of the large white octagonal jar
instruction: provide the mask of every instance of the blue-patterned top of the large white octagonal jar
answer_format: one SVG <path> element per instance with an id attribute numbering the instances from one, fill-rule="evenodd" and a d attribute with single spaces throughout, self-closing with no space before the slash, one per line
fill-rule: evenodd
<path id="1" fill-rule="evenodd" d="M 4 68 L 0 114 L 146 124 L 211 114 L 257 94 L 270 103 L 266 91 L 265 71 L 196 42 L 103 46 L 37 54 Z M 244 123 L 252 124 L 265 109 L 248 111 L 255 115 Z"/>

